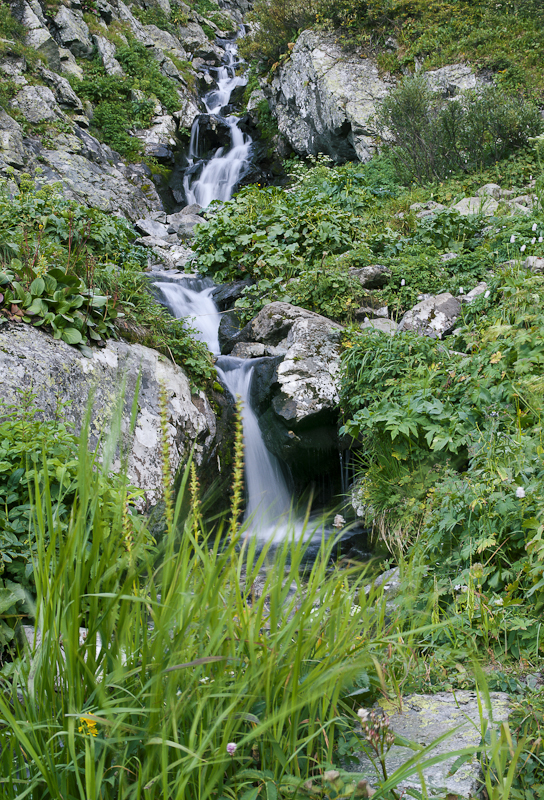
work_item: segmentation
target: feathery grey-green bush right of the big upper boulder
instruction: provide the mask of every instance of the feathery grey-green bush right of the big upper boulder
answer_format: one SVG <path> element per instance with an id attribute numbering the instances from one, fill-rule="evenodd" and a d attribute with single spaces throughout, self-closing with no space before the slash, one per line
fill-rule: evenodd
<path id="1" fill-rule="evenodd" d="M 382 101 L 376 121 L 402 179 L 420 183 L 482 169 L 542 127 L 535 105 L 501 88 L 447 100 L 423 75 L 405 78 Z"/>

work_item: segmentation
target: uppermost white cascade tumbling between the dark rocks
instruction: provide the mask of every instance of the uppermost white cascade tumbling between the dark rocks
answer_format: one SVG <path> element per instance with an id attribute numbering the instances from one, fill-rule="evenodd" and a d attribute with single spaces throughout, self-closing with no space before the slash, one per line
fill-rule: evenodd
<path id="1" fill-rule="evenodd" d="M 219 117 L 228 128 L 230 146 L 219 148 L 211 159 L 206 160 L 200 152 L 200 119 L 197 117 L 191 130 L 188 169 L 183 181 L 187 203 L 198 203 L 202 208 L 207 208 L 212 200 L 230 200 L 250 166 L 251 137 L 240 130 L 237 116 L 221 114 L 230 103 L 233 91 L 247 83 L 245 77 L 236 75 L 240 61 L 235 41 L 225 44 L 225 53 L 225 64 L 209 68 L 210 73 L 217 72 L 217 88 L 204 95 L 203 102 L 208 114 Z"/>

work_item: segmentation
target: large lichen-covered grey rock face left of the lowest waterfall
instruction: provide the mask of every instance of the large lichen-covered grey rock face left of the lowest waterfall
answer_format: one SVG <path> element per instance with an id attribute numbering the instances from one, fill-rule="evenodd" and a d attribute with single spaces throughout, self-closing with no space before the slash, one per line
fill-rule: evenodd
<path id="1" fill-rule="evenodd" d="M 131 435 L 128 421 L 140 371 L 139 410 Z M 168 398 L 166 422 L 172 472 L 187 457 L 193 442 L 196 462 L 200 464 L 215 437 L 215 417 L 204 394 L 191 394 L 181 367 L 141 345 L 108 341 L 103 349 L 94 350 L 92 358 L 86 358 L 76 348 L 30 325 L 0 328 L 0 396 L 8 403 L 17 403 L 18 389 L 32 390 L 36 407 L 51 418 L 57 413 L 58 403 L 67 402 L 63 416 L 76 430 L 92 402 L 91 446 L 107 435 L 124 387 L 121 435 L 128 448 L 128 478 L 144 490 L 146 505 L 154 505 L 162 493 L 161 385 Z M 114 466 L 118 468 L 119 462 Z"/>

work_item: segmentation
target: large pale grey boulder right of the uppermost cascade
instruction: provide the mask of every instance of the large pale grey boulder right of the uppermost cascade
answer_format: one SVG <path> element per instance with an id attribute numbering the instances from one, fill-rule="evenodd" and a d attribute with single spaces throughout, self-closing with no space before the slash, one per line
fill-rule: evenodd
<path id="1" fill-rule="evenodd" d="M 334 35 L 303 31 L 265 91 L 296 153 L 368 161 L 376 147 L 371 119 L 393 85 L 373 59 L 345 52 Z"/>

